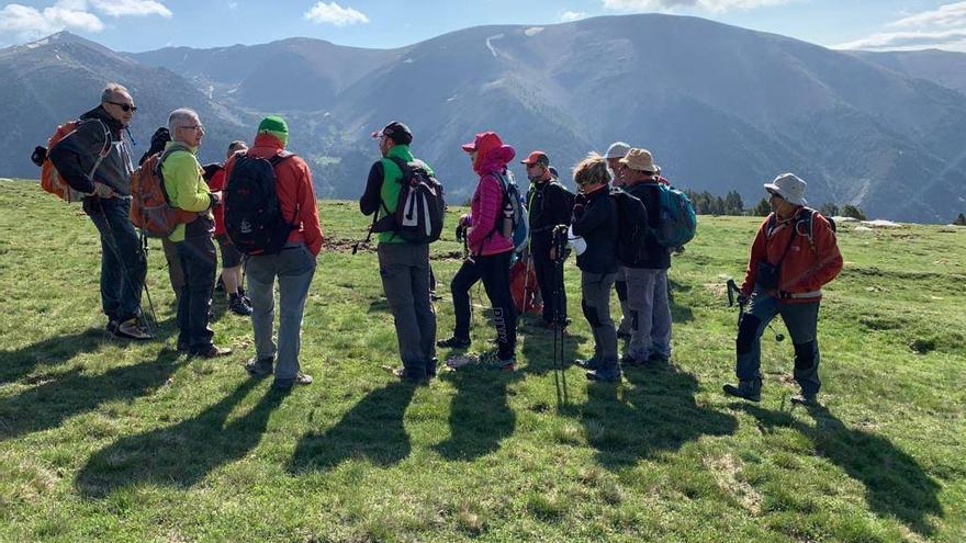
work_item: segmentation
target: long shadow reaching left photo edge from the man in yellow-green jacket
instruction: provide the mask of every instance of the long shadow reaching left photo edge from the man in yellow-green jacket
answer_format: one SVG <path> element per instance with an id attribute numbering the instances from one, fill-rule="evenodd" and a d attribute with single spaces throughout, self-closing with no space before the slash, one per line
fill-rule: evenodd
<path id="1" fill-rule="evenodd" d="M 54 428 L 66 419 L 117 399 L 134 399 L 164 385 L 179 367 L 179 355 L 162 350 L 157 359 L 114 367 L 100 375 L 82 369 L 0 400 L 0 441 Z"/>

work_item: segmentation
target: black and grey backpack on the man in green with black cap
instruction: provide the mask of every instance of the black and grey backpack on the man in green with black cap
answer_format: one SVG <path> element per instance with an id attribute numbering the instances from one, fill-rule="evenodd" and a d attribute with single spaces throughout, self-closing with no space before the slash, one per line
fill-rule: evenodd
<path id="1" fill-rule="evenodd" d="M 386 157 L 400 167 L 400 197 L 396 208 L 373 224 L 372 231 L 392 231 L 409 244 L 431 244 L 442 234 L 446 200 L 442 184 L 429 172 L 422 160 L 406 162 L 398 157 Z"/>

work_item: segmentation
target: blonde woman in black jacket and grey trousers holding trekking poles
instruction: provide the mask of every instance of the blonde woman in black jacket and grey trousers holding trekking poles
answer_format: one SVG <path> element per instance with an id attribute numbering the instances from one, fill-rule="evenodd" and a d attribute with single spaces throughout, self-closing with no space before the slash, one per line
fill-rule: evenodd
<path id="1" fill-rule="evenodd" d="M 610 319 L 610 290 L 617 279 L 617 208 L 610 197 L 610 173 L 604 157 L 592 152 L 574 169 L 581 193 L 573 208 L 573 233 L 586 241 L 577 254 L 581 308 L 594 332 L 594 357 L 575 363 L 591 381 L 619 382 L 617 329 Z"/>

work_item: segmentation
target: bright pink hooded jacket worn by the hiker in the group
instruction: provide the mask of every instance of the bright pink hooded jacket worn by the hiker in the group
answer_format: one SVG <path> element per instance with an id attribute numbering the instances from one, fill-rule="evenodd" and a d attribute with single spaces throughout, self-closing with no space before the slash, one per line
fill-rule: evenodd
<path id="1" fill-rule="evenodd" d="M 472 226 L 467 241 L 473 254 L 499 254 L 513 250 L 513 240 L 503 237 L 496 228 L 497 219 L 503 218 L 503 185 L 497 174 L 506 171 L 506 165 L 516 156 L 513 147 L 504 145 L 492 149 L 474 167 L 480 182 L 470 204 L 467 224 Z"/>

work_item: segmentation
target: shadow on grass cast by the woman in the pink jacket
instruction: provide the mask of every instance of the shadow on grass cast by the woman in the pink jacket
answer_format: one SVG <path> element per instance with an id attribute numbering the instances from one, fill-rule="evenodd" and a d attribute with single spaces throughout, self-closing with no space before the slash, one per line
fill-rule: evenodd
<path id="1" fill-rule="evenodd" d="M 470 367 L 449 372 L 457 389 L 449 409 L 450 435 L 433 448 L 447 460 L 472 461 L 499 449 L 516 428 L 506 388 L 517 378 L 513 372 Z"/>

